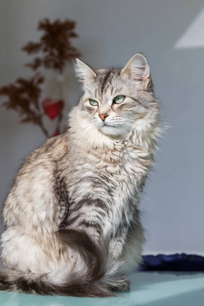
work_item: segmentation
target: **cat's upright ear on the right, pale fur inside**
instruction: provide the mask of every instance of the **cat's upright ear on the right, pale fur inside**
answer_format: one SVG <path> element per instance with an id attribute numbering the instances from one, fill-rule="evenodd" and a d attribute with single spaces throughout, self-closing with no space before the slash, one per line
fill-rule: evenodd
<path id="1" fill-rule="evenodd" d="M 122 69 L 122 73 L 127 74 L 131 79 L 141 83 L 142 88 L 146 89 L 150 82 L 150 69 L 146 58 L 138 53 Z"/>

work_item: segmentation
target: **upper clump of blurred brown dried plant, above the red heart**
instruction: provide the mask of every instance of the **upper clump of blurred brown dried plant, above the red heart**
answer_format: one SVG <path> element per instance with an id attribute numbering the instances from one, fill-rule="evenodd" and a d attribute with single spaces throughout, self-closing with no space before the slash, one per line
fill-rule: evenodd
<path id="1" fill-rule="evenodd" d="M 51 22 L 48 18 L 41 20 L 38 30 L 43 31 L 39 42 L 28 42 L 22 47 L 28 54 L 42 53 L 31 63 L 25 64 L 33 70 L 44 66 L 46 69 L 63 71 L 67 62 L 80 56 L 78 50 L 72 46 L 70 39 L 79 37 L 75 33 L 75 21 L 56 19 Z"/>

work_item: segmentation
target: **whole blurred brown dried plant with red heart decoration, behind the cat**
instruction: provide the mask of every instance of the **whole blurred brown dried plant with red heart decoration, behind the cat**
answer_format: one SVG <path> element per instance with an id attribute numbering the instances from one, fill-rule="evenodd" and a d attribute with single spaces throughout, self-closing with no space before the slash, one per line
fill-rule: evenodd
<path id="1" fill-rule="evenodd" d="M 62 74 L 66 64 L 80 56 L 70 41 L 72 38 L 79 37 L 74 31 L 75 26 L 76 22 L 69 19 L 64 21 L 56 19 L 53 22 L 48 18 L 40 20 L 37 29 L 43 31 L 43 35 L 38 42 L 28 42 L 22 47 L 22 50 L 29 55 L 38 54 L 32 62 L 25 64 L 34 71 L 33 77 L 18 78 L 14 83 L 0 88 L 0 95 L 8 97 L 3 106 L 17 111 L 20 123 L 30 122 L 39 125 L 46 137 L 49 135 L 43 124 L 43 115 L 47 115 L 51 120 L 57 118 L 53 135 L 59 135 L 64 101 L 63 97 L 59 100 L 47 97 L 41 101 L 42 84 L 45 78 L 36 71 L 41 67 L 53 69 Z"/>

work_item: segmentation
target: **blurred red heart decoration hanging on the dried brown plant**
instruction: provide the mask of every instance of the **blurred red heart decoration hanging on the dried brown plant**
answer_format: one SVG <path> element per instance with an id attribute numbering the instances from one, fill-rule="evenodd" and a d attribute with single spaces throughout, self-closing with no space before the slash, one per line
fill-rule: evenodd
<path id="1" fill-rule="evenodd" d="M 61 113 L 64 108 L 64 101 L 63 100 L 53 100 L 52 98 L 46 98 L 42 101 L 42 108 L 45 114 L 50 119 L 55 119 Z"/>

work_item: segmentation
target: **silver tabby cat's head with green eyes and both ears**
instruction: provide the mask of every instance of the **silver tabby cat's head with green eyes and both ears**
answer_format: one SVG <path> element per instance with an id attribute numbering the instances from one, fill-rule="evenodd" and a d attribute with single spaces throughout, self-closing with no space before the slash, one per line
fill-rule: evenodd
<path id="1" fill-rule="evenodd" d="M 157 116 L 159 104 L 142 54 L 134 55 L 124 68 L 94 69 L 77 59 L 76 71 L 83 83 L 83 118 L 101 133 L 124 138 L 145 131 Z"/>

